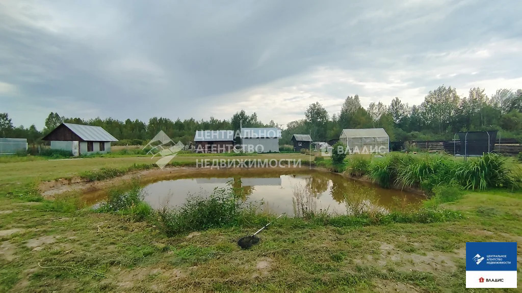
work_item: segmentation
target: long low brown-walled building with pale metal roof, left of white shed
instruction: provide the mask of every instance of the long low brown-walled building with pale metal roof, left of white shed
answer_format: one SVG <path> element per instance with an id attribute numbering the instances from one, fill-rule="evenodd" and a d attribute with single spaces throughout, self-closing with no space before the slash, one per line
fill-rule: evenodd
<path id="1" fill-rule="evenodd" d="M 196 153 L 225 153 L 234 148 L 233 130 L 197 130 L 194 136 Z"/>

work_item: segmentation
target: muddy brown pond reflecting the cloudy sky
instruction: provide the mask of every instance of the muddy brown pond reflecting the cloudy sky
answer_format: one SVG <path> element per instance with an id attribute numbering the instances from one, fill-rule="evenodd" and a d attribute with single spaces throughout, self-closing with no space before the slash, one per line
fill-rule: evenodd
<path id="1" fill-rule="evenodd" d="M 288 215 L 302 210 L 326 211 L 329 214 L 416 209 L 424 197 L 406 191 L 379 188 L 338 174 L 317 170 L 267 172 L 246 170 L 229 172 L 192 173 L 174 178 L 149 178 L 142 181 L 145 201 L 153 208 L 181 206 L 190 194 L 208 196 L 213 189 L 232 185 L 242 187 L 244 200 L 262 212 Z M 188 177 L 188 178 L 187 178 Z M 102 200 L 106 193 L 86 194 Z"/>

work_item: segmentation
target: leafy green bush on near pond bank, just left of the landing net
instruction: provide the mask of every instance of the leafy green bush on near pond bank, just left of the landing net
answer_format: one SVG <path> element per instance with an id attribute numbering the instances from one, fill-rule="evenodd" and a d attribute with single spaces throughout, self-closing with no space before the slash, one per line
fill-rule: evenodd
<path id="1" fill-rule="evenodd" d="M 192 194 L 176 209 L 164 206 L 158 212 L 159 225 L 168 236 L 219 227 L 256 224 L 266 220 L 256 215 L 253 205 L 246 204 L 236 196 L 230 185 L 215 188 L 209 196 Z M 264 223 L 264 222 L 263 222 Z M 258 224 L 258 223 L 257 223 Z"/>

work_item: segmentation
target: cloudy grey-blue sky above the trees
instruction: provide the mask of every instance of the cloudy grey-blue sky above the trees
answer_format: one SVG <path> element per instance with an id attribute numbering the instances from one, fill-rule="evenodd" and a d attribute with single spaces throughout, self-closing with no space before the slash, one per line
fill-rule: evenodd
<path id="1" fill-rule="evenodd" d="M 0 2 L 0 113 L 304 118 L 319 102 L 420 104 L 522 88 L 522 2 L 236 0 Z"/>

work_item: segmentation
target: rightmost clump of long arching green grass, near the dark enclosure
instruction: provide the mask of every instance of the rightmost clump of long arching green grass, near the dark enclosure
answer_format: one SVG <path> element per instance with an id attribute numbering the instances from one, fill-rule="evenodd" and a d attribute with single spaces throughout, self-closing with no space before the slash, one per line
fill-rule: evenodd
<path id="1" fill-rule="evenodd" d="M 516 187 L 516 179 L 506 166 L 505 159 L 497 154 L 484 154 L 477 159 L 470 159 L 458 167 L 455 175 L 465 189 Z"/>

